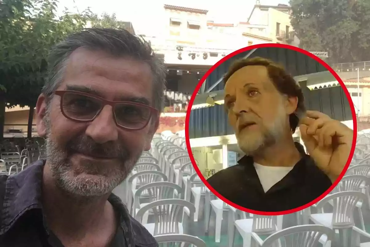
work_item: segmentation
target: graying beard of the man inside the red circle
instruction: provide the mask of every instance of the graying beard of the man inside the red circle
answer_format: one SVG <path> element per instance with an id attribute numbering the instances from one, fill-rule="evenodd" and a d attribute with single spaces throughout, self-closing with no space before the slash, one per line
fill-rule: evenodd
<path id="1" fill-rule="evenodd" d="M 277 116 L 275 120 L 267 125 L 260 126 L 260 137 L 256 140 L 251 140 L 253 134 L 243 134 L 236 136 L 238 146 L 247 156 L 255 156 L 260 154 L 266 147 L 274 145 L 284 134 L 286 124 L 286 115 L 283 104 L 279 104 Z"/>

